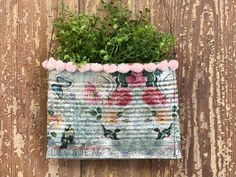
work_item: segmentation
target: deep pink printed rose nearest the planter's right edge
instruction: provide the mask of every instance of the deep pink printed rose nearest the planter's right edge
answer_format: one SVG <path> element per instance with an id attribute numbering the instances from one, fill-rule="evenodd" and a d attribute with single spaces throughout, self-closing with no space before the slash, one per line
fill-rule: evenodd
<path id="1" fill-rule="evenodd" d="M 147 87 L 143 90 L 142 100 L 148 105 L 165 104 L 167 102 L 165 95 L 156 87 Z"/>

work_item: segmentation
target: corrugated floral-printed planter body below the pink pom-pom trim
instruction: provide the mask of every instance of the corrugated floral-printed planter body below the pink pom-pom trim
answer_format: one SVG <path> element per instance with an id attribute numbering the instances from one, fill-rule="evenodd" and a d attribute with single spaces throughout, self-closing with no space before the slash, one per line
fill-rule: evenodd
<path id="1" fill-rule="evenodd" d="M 47 158 L 181 158 L 175 71 L 49 72 Z"/>

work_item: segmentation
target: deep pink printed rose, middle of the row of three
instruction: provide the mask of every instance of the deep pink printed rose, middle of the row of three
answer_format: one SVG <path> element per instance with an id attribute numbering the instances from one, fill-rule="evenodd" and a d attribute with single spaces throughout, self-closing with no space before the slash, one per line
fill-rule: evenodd
<path id="1" fill-rule="evenodd" d="M 132 95 L 129 89 L 120 87 L 114 91 L 108 99 L 109 105 L 126 106 L 132 101 Z"/>

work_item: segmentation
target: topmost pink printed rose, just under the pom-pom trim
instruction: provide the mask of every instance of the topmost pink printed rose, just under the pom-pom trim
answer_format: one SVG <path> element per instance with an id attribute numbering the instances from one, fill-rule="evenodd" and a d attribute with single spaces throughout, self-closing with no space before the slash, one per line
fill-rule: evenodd
<path id="1" fill-rule="evenodd" d="M 126 77 L 127 82 L 131 87 L 139 87 L 147 81 L 143 73 L 131 72 L 131 75 Z"/>

